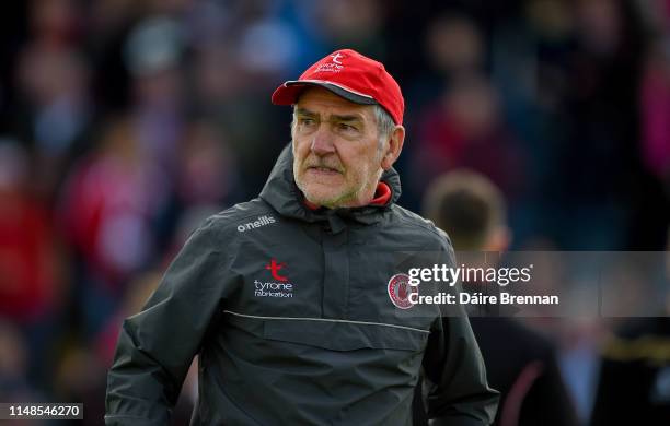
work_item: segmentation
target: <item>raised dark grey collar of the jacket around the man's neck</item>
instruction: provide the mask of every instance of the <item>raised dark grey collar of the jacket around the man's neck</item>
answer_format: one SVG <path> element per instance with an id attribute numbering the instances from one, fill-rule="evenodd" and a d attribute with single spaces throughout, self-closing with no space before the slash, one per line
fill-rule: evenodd
<path id="1" fill-rule="evenodd" d="M 374 224 L 383 217 L 390 206 L 397 201 L 401 194 L 401 181 L 394 168 L 385 170 L 380 179 L 391 189 L 391 197 L 384 204 L 370 204 L 351 209 L 311 210 L 304 204 L 304 197 L 293 179 L 293 153 L 289 143 L 279 157 L 275 167 L 261 191 L 261 198 L 269 203 L 279 214 L 286 217 L 305 222 L 327 221 L 334 233 L 344 228 L 344 220 L 353 220 L 362 224 Z"/>

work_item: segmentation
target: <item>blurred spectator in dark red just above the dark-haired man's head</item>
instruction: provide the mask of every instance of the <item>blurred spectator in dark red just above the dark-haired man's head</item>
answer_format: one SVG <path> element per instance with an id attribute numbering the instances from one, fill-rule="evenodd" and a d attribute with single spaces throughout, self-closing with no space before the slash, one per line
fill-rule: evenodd
<path id="1" fill-rule="evenodd" d="M 478 74 L 458 76 L 424 115 L 412 159 L 415 186 L 469 167 L 498 182 L 507 198 L 523 194 L 525 159 L 505 125 L 495 87 Z"/>

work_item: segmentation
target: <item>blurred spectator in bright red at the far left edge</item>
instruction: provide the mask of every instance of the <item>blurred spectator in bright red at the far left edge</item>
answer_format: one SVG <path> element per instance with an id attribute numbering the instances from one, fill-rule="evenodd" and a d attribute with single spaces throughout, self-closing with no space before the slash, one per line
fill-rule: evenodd
<path id="1" fill-rule="evenodd" d="M 0 138 L 0 319 L 23 333 L 28 380 L 49 369 L 51 345 L 65 324 L 67 256 L 58 252 L 50 211 L 30 186 L 28 155 L 15 140 Z"/>

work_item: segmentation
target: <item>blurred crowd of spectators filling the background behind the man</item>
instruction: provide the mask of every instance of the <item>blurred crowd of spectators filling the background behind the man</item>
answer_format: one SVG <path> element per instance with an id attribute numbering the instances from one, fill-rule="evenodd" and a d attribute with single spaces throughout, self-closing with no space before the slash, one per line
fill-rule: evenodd
<path id="1" fill-rule="evenodd" d="M 400 204 L 467 167 L 501 188 L 512 249 L 666 247 L 668 0 L 32 0 L 0 21 L 2 402 L 101 423 L 122 319 L 204 217 L 257 196 L 290 140 L 272 92 L 336 48 L 403 87 Z M 563 345 L 586 422 L 585 328 Z"/>

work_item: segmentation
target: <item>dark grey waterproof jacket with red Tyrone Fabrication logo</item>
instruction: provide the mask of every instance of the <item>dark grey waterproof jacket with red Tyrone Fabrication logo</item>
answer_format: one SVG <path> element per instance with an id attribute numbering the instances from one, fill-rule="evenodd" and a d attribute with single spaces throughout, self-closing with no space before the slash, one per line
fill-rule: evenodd
<path id="1" fill-rule="evenodd" d="M 382 181 L 384 205 L 310 210 L 287 146 L 261 197 L 208 218 L 124 322 L 106 424 L 166 425 L 199 355 L 193 425 L 411 425 L 421 371 L 432 424 L 488 425 L 497 392 L 467 318 L 391 300 L 412 253 L 454 259 L 395 204 L 395 170 Z"/>

